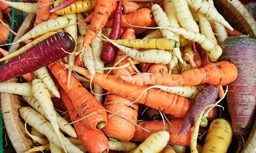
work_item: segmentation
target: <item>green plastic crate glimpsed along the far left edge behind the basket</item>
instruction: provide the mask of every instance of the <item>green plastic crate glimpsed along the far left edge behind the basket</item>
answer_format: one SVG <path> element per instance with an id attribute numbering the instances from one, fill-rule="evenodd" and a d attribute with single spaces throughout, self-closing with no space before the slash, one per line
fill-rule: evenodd
<path id="1" fill-rule="evenodd" d="M 13 0 L 15 2 L 18 2 L 19 0 Z M 12 9 L 12 21 L 11 21 L 11 30 L 14 29 L 14 27 L 16 29 L 18 29 L 20 27 L 20 25 L 22 24 L 24 19 L 24 15 L 23 12 L 18 10 L 18 9 Z M 12 39 L 14 38 L 14 35 L 11 33 L 10 35 L 10 42 L 12 43 Z M 9 45 L 9 48 L 11 47 L 11 45 Z M 1 67 L 1 65 L 0 65 Z M 1 105 L 0 105 L 1 107 Z M 0 127 L 3 127 L 3 118 L 2 118 L 2 112 L 0 110 Z M 11 147 L 13 149 L 13 151 L 15 152 L 14 148 L 12 147 L 11 144 L 6 144 L 5 140 L 3 140 L 3 134 L 5 134 L 6 131 L 3 130 L 3 128 L 1 128 L 0 130 L 0 153 L 5 153 L 4 151 L 4 146 L 7 145 L 9 147 Z"/>

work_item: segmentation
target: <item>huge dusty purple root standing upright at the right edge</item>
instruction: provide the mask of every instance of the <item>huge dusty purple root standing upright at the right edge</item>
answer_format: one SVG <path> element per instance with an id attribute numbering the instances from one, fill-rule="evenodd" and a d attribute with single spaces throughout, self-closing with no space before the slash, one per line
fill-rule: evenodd
<path id="1" fill-rule="evenodd" d="M 255 116 L 256 39 L 230 36 L 222 46 L 220 60 L 235 64 L 238 70 L 237 79 L 228 84 L 226 97 L 239 152 L 251 132 Z"/>

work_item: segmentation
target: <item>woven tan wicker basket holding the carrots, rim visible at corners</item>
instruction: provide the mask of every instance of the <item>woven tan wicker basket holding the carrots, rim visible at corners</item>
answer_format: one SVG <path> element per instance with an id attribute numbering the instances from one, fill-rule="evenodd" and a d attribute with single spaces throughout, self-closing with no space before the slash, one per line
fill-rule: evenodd
<path id="1" fill-rule="evenodd" d="M 256 22 L 246 10 L 244 5 L 238 0 L 214 0 L 215 7 L 222 14 L 222 16 L 231 24 L 233 28 L 239 30 L 243 34 L 248 34 L 251 38 L 256 39 Z M 19 34 L 23 35 L 32 28 L 34 15 L 28 15 L 24 20 Z M 14 42 L 18 38 L 14 39 Z M 14 52 L 24 44 L 15 44 L 10 48 L 10 52 Z M 17 79 L 11 79 L 11 82 Z M 33 144 L 31 138 L 26 134 L 24 123 L 19 117 L 18 108 L 24 105 L 23 99 L 19 95 L 1 93 L 1 109 L 3 120 L 8 136 L 14 146 L 16 152 L 25 152 L 30 149 Z M 242 152 L 254 153 L 256 152 L 256 123 L 253 126 L 251 134 L 246 141 Z"/>

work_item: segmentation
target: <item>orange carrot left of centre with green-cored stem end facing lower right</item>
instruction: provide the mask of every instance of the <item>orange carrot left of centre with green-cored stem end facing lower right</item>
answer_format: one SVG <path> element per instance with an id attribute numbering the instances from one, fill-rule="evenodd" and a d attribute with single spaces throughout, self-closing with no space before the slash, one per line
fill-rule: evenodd
<path id="1" fill-rule="evenodd" d="M 52 67 L 49 68 L 52 70 L 52 74 L 58 79 L 60 86 L 68 93 L 80 117 L 104 109 L 94 96 L 80 84 L 74 75 L 71 75 L 70 88 L 68 88 L 68 70 L 64 69 L 59 62 L 54 63 Z M 102 129 L 107 123 L 106 111 L 100 111 L 97 114 L 90 115 L 82 121 L 84 125 L 90 129 Z"/>

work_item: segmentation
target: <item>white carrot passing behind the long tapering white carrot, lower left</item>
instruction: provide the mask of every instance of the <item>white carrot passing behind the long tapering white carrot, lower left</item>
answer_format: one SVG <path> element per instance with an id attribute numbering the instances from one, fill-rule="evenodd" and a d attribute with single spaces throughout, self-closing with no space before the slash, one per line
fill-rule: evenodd
<path id="1" fill-rule="evenodd" d="M 49 115 L 45 114 L 42 105 L 38 102 L 34 97 L 22 96 L 23 99 L 29 103 L 35 110 L 38 111 L 41 115 L 43 115 L 47 120 L 49 120 Z M 55 110 L 54 110 L 55 111 Z M 55 114 L 57 116 L 57 122 L 61 130 L 67 133 L 71 137 L 77 137 L 75 129 L 69 125 L 68 121 L 66 121 L 63 117 L 61 117 L 56 111 Z"/>

